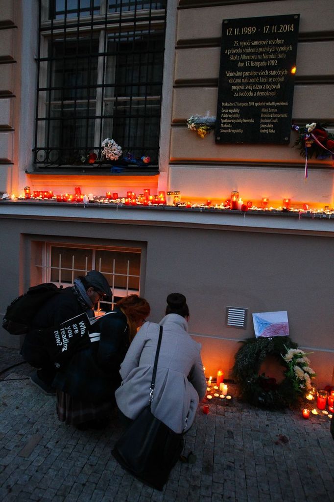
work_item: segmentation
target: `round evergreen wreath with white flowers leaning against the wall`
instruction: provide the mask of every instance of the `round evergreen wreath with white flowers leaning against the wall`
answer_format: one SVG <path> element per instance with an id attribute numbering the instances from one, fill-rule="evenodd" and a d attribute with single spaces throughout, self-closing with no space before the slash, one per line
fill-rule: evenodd
<path id="1" fill-rule="evenodd" d="M 288 336 L 248 338 L 241 343 L 232 370 L 241 400 L 271 409 L 297 406 L 310 387 L 310 379 L 315 376 L 305 352 L 299 350 Z M 267 356 L 274 357 L 286 367 L 285 378 L 280 384 L 264 373 L 259 375 Z"/>

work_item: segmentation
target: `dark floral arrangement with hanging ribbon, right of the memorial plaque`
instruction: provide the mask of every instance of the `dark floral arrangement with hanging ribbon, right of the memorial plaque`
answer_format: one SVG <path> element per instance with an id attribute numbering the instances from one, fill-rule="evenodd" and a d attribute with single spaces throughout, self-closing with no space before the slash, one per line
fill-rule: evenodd
<path id="1" fill-rule="evenodd" d="M 298 133 L 294 146 L 299 148 L 300 155 L 316 159 L 326 159 L 334 155 L 334 134 L 328 133 L 324 126 L 312 122 L 305 127 L 292 126 Z"/>

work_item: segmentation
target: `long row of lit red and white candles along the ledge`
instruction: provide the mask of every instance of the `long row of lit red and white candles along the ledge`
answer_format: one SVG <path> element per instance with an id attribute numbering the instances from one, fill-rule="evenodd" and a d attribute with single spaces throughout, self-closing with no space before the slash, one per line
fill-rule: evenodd
<path id="1" fill-rule="evenodd" d="M 93 203 L 97 202 L 100 204 L 124 204 L 126 206 L 151 206 L 151 205 L 166 205 L 166 206 L 178 206 L 181 208 L 191 209 L 216 209 L 216 210 L 239 210 L 246 212 L 251 211 L 282 211 L 282 212 L 297 212 L 297 213 L 326 213 L 332 214 L 334 210 L 329 208 L 329 206 L 324 206 L 323 208 L 313 208 L 311 209 L 308 204 L 301 204 L 300 207 L 292 207 L 291 199 L 284 198 L 280 205 L 277 207 L 269 206 L 269 198 L 262 197 L 261 201 L 253 204 L 251 200 L 243 201 L 239 197 L 239 192 L 233 190 L 229 199 L 213 204 L 210 199 L 203 201 L 202 203 L 192 203 L 189 200 L 181 201 L 181 193 L 179 190 L 175 191 L 159 191 L 157 195 L 151 195 L 150 189 L 145 188 L 144 193 L 136 194 L 130 190 L 127 191 L 126 196 L 119 196 L 117 192 L 106 192 L 105 196 L 96 196 L 92 193 L 82 194 L 80 187 L 75 187 L 74 193 L 65 194 L 54 194 L 51 190 L 33 190 L 27 186 L 24 188 L 24 194 L 16 197 L 14 194 L 10 197 L 12 200 L 28 200 L 28 199 L 38 199 L 46 200 L 53 199 L 57 202 L 76 202 L 76 203 Z M 8 194 L 7 194 L 8 195 Z"/>

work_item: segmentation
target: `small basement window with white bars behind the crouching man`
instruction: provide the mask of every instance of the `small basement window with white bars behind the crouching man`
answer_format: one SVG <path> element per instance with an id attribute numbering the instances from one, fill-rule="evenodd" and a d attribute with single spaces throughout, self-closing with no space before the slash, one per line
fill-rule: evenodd
<path id="1" fill-rule="evenodd" d="M 68 287 L 89 270 L 98 270 L 107 279 L 112 297 L 96 305 L 96 314 L 113 310 L 116 302 L 140 294 L 141 249 L 127 247 L 94 248 L 48 243 L 42 263 L 36 265 L 42 282 Z"/>

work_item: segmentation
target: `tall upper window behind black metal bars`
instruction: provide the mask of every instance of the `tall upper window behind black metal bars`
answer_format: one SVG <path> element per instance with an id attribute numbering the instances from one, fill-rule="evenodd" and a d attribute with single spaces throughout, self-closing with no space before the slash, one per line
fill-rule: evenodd
<path id="1" fill-rule="evenodd" d="M 41 0 L 37 169 L 157 171 L 165 18 L 166 0 Z"/>

